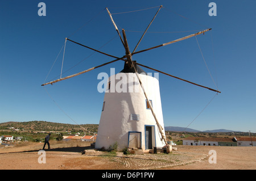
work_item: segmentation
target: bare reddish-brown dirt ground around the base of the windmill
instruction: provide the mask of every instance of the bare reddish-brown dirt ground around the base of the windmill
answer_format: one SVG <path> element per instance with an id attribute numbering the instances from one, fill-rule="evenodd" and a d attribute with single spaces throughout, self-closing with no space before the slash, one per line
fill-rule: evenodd
<path id="1" fill-rule="evenodd" d="M 256 147 L 175 146 L 169 154 L 111 154 L 95 151 L 90 142 L 50 142 L 51 149 L 39 150 L 43 143 L 22 143 L 0 148 L 0 170 L 255 170 Z M 85 153 L 81 152 L 85 150 Z M 209 163 L 210 150 L 216 163 Z M 210 159 L 212 160 L 212 159 Z M 45 161 L 46 163 L 39 163 Z"/>

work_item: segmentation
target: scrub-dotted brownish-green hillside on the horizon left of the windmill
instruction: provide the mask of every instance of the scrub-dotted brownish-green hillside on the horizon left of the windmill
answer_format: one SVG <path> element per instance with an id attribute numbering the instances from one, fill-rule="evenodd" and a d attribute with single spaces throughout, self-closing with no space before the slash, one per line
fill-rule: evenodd
<path id="1" fill-rule="evenodd" d="M 81 124 L 82 128 L 90 132 L 98 131 L 98 124 Z M 74 132 L 82 131 L 80 125 L 53 123 L 48 121 L 24 121 L 24 122 L 6 122 L 0 123 L 0 129 L 19 128 L 20 131 L 59 131 L 65 132 L 72 130 Z"/>

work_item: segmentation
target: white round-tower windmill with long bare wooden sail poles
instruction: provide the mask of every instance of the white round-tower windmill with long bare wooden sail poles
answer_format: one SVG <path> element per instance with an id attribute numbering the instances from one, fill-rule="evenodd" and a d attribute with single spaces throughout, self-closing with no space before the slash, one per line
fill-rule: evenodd
<path id="1" fill-rule="evenodd" d="M 80 43 L 77 43 L 76 41 L 66 38 L 65 39 L 66 41 L 67 40 L 72 41 L 73 43 L 79 44 L 82 47 L 94 50 L 101 54 L 105 54 L 106 56 L 109 56 L 109 57 L 113 57 L 115 58 L 115 60 L 106 62 L 105 64 L 102 64 L 102 65 L 94 66 L 93 68 L 81 71 L 77 74 L 69 75 L 64 78 L 56 79 L 55 81 L 44 83 L 42 85 L 42 86 L 45 86 L 45 85 L 53 84 L 59 81 L 63 81 L 64 79 L 75 77 L 77 75 L 86 73 L 90 70 L 100 68 L 102 66 L 111 64 L 119 60 L 124 61 L 123 70 L 118 74 L 112 75 L 112 77 L 110 77 L 108 80 L 107 89 L 109 91 L 106 91 L 104 96 L 104 103 L 102 106 L 101 119 L 100 119 L 100 124 L 98 128 L 97 140 L 96 140 L 96 148 L 104 147 L 105 149 L 108 149 L 109 146 L 115 143 L 118 145 L 119 150 L 122 150 L 125 148 L 139 148 L 142 150 L 147 150 L 147 149 L 152 149 L 153 147 L 160 147 L 160 148 L 168 147 L 168 142 L 164 132 L 159 82 L 158 82 L 158 79 L 147 75 L 142 70 L 141 66 L 147 69 L 158 71 L 159 73 L 166 74 L 170 77 L 180 79 L 181 81 L 185 81 L 193 85 L 200 86 L 205 89 L 209 89 L 210 91 L 220 92 L 218 90 L 214 90 L 209 87 L 202 86 L 197 83 L 187 81 L 185 79 L 181 79 L 174 75 L 164 73 L 163 71 L 150 68 L 146 65 L 139 64 L 137 61 L 133 61 L 134 54 L 146 52 L 151 49 L 163 47 L 172 43 L 176 43 L 181 40 L 189 39 L 190 37 L 201 35 L 211 30 L 211 29 L 207 29 L 204 31 L 193 33 L 192 35 L 188 35 L 180 39 L 169 41 L 167 43 L 160 44 L 155 47 L 139 50 L 136 52 L 138 45 L 141 43 L 141 40 L 143 39 L 143 36 L 147 32 L 148 28 L 150 27 L 151 23 L 154 21 L 156 15 L 158 14 L 158 12 L 162 7 L 163 6 L 159 7 L 158 11 L 154 15 L 154 18 L 152 18 L 150 24 L 148 24 L 146 30 L 141 36 L 141 39 L 139 39 L 133 52 L 130 52 L 125 30 L 122 29 L 122 36 L 121 36 L 121 33 L 119 32 L 112 18 L 112 14 L 108 10 L 108 8 L 106 8 L 106 10 L 108 11 L 109 17 L 112 20 L 114 28 L 117 31 L 118 36 L 125 49 L 125 55 L 122 57 L 113 56 L 111 54 L 101 52 L 99 50 L 90 48 L 86 45 L 82 45 Z M 139 85 L 140 91 L 139 92 L 110 91 L 112 89 L 115 89 L 115 87 L 117 86 L 117 82 L 115 82 L 116 77 L 128 78 L 129 81 L 122 78 L 122 81 L 119 81 L 118 83 L 119 84 L 121 83 L 122 86 L 129 87 L 129 88 L 131 85 Z"/>

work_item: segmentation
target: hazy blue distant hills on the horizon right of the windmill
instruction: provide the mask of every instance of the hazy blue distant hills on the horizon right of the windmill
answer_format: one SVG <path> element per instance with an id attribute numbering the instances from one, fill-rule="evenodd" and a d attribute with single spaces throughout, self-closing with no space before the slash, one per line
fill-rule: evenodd
<path id="1" fill-rule="evenodd" d="M 196 129 L 191 128 L 183 128 L 183 127 L 164 127 L 166 131 L 172 131 L 172 132 L 207 132 L 207 133 L 220 133 L 220 132 L 240 132 L 240 131 L 232 131 L 228 129 L 214 129 L 214 130 L 207 130 L 207 131 L 199 131 Z"/>

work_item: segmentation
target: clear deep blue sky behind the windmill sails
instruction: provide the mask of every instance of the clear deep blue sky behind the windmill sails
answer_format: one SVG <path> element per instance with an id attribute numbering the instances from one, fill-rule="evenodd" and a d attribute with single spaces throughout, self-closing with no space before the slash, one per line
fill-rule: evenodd
<path id="1" fill-rule="evenodd" d="M 38 15 L 39 2 L 46 3 L 46 16 Z M 216 3 L 217 16 L 209 16 L 210 2 Z M 120 71 L 123 62 L 42 87 L 65 37 L 121 57 L 125 51 L 105 7 L 112 12 L 119 30 L 126 30 L 133 50 L 158 8 L 115 13 L 160 5 L 164 8 L 137 50 L 197 32 L 194 30 L 212 28 L 197 36 L 197 40 L 221 91 L 199 115 L 215 93 L 159 74 L 164 125 L 187 127 L 191 123 L 189 128 L 200 131 L 223 128 L 256 132 L 256 1 L 253 0 L 0 1 L 0 123 L 44 120 L 75 124 L 69 115 L 78 124 L 98 124 L 104 94 L 97 91 L 100 82 L 97 75 L 110 74 L 110 68 Z M 63 77 L 113 60 L 92 53 L 68 41 Z M 60 77 L 62 57 L 63 51 L 46 81 Z M 216 89 L 195 37 L 134 55 L 133 60 Z"/>

